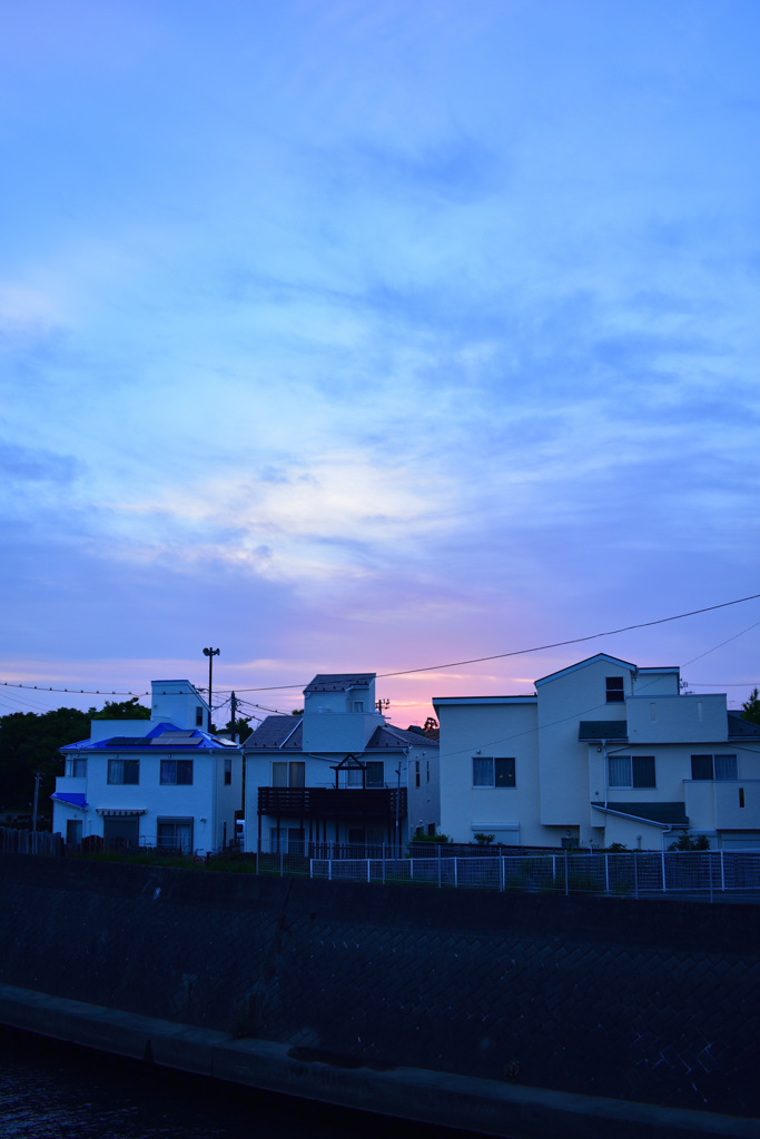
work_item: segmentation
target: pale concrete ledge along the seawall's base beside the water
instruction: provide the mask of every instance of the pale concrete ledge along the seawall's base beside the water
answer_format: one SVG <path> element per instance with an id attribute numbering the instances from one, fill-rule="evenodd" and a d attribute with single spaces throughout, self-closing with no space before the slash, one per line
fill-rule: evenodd
<path id="1" fill-rule="evenodd" d="M 304 1062 L 286 1044 L 0 985 L 0 1023 L 265 1091 L 502 1139 L 760 1139 L 760 1121 L 422 1068 Z"/>

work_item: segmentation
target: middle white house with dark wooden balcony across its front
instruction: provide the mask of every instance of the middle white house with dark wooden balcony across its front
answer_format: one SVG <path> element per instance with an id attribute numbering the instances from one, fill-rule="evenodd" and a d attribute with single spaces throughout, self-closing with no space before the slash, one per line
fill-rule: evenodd
<path id="1" fill-rule="evenodd" d="M 246 850 L 401 847 L 439 822 L 438 741 L 377 710 L 375 673 L 314 677 L 244 744 Z"/>

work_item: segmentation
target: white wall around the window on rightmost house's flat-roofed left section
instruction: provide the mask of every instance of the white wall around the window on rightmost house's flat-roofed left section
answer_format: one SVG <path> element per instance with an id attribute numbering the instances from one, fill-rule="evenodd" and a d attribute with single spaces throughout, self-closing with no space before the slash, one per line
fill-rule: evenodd
<path id="1" fill-rule="evenodd" d="M 534 697 L 434 700 L 441 726 L 441 831 L 469 843 L 475 831 L 510 845 L 548 844 L 539 821 Z M 514 787 L 473 787 L 473 759 L 514 757 Z"/>

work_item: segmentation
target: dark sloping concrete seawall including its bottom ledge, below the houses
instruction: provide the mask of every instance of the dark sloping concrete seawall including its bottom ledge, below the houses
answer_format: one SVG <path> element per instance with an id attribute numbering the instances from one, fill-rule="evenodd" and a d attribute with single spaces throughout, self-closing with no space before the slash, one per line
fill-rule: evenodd
<path id="1" fill-rule="evenodd" d="M 755 907 L 0 855 L 0 913 L 5 1023 L 487 1133 L 760 1134 Z"/>

